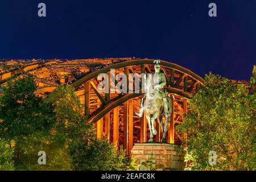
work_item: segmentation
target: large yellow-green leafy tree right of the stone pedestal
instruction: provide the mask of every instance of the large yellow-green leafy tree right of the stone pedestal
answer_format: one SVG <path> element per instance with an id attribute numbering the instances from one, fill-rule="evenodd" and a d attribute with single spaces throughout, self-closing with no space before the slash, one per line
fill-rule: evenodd
<path id="1" fill-rule="evenodd" d="M 256 68 L 251 85 L 239 85 L 219 75 L 205 76 L 191 100 L 190 114 L 177 126 L 183 140 L 191 169 L 255 170 Z M 183 135 L 184 137 L 184 135 Z M 217 164 L 208 162 L 209 152 L 216 151 Z"/>

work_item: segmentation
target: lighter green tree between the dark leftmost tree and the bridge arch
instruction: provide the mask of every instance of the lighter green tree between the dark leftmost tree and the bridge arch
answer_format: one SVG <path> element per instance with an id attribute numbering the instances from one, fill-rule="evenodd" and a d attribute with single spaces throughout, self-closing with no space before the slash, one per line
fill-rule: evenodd
<path id="1" fill-rule="evenodd" d="M 82 106 L 74 88 L 60 85 L 45 101 L 54 107 L 56 119 L 51 129 L 51 147 L 47 150 L 51 154 L 51 168 L 73 169 L 71 145 L 80 143 L 86 146 L 94 137 L 93 126 L 82 115 Z"/>

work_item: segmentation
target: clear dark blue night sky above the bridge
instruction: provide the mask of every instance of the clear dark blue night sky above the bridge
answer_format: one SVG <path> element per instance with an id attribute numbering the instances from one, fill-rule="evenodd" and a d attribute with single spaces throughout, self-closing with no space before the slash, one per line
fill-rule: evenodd
<path id="1" fill-rule="evenodd" d="M 39 18 L 38 3 L 47 6 Z M 217 17 L 208 16 L 210 2 Z M 256 0 L 1 0 L 0 59 L 142 57 L 249 80 Z"/>

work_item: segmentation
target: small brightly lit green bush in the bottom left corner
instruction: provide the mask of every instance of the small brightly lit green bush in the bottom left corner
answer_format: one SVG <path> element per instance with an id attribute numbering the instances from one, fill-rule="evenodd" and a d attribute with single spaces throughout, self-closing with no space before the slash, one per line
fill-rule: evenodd
<path id="1" fill-rule="evenodd" d="M 14 147 L 0 138 L 0 171 L 14 169 Z"/>

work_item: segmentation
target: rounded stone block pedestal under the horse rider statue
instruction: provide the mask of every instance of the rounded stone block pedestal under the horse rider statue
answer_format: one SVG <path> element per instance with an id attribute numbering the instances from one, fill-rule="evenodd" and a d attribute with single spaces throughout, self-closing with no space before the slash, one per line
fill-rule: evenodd
<path id="1" fill-rule="evenodd" d="M 184 154 L 171 143 L 135 143 L 131 155 L 137 159 L 139 170 L 183 170 Z"/>

